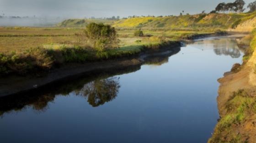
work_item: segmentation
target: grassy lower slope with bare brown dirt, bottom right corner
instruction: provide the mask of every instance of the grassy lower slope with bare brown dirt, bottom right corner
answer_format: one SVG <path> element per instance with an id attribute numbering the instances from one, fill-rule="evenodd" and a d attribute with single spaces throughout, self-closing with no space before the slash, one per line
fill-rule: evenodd
<path id="1" fill-rule="evenodd" d="M 254 143 L 256 98 L 254 91 L 238 90 L 226 102 L 227 113 L 219 120 L 208 143 Z"/>

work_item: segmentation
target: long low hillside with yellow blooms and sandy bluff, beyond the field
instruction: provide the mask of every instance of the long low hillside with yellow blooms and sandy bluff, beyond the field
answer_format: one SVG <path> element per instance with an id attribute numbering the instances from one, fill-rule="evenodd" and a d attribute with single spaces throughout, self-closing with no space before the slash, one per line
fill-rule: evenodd
<path id="1" fill-rule="evenodd" d="M 142 29 L 229 29 L 251 31 L 256 26 L 256 13 L 200 14 L 165 17 L 135 17 L 122 20 L 69 19 L 59 23 L 61 27 L 85 27 L 90 22 L 104 23 L 117 28 Z"/>

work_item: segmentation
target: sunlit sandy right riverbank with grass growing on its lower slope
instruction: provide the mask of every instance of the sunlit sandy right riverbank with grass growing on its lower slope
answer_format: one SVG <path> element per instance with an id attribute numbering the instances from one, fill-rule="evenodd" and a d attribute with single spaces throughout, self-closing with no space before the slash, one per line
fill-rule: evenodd
<path id="1" fill-rule="evenodd" d="M 255 143 L 256 36 L 253 36 L 242 66 L 235 64 L 231 72 L 218 80 L 217 101 L 221 118 L 209 143 Z"/>

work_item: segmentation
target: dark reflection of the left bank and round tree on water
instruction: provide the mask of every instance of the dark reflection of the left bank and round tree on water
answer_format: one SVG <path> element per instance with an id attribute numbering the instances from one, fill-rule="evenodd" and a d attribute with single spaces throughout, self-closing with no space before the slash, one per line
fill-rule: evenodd
<path id="1" fill-rule="evenodd" d="M 170 56 L 178 53 L 171 52 L 164 55 L 151 56 L 146 58 L 144 64 L 160 66 L 168 62 Z M 112 69 L 109 71 L 95 71 L 83 75 L 63 80 L 43 87 L 37 91 L 27 92 L 20 95 L 13 95 L 0 98 L 0 116 L 4 117 L 8 112 L 19 112 L 32 107 L 37 112 L 44 112 L 48 109 L 48 103 L 53 102 L 56 96 L 84 97 L 92 107 L 98 107 L 106 102 L 111 102 L 117 97 L 119 88 L 118 75 L 136 72 L 141 65 L 128 66 L 122 69 Z"/>

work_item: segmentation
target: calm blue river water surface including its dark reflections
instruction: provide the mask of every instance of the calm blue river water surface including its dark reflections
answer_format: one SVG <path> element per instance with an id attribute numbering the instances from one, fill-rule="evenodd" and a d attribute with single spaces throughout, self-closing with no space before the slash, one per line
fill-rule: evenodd
<path id="1" fill-rule="evenodd" d="M 206 143 L 217 79 L 242 56 L 235 38 L 209 38 L 141 67 L 0 98 L 1 143 Z"/>

